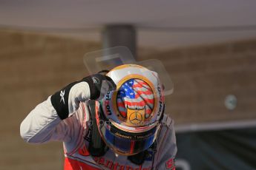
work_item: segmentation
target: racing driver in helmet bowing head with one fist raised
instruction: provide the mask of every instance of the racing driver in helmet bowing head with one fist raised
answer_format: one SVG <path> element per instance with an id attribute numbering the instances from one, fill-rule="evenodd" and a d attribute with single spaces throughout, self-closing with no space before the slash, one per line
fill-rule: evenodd
<path id="1" fill-rule="evenodd" d="M 39 103 L 22 121 L 27 143 L 64 143 L 65 170 L 175 169 L 174 121 L 157 72 L 125 64 L 89 75 Z"/>

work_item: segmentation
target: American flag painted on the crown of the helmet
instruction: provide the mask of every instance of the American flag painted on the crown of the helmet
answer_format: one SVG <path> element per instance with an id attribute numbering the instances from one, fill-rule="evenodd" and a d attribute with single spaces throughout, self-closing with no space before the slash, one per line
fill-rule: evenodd
<path id="1" fill-rule="evenodd" d="M 145 109 L 145 119 L 154 109 L 154 93 L 151 87 L 138 78 L 131 78 L 120 86 L 116 96 L 117 109 L 122 118 L 127 117 L 127 109 Z"/>

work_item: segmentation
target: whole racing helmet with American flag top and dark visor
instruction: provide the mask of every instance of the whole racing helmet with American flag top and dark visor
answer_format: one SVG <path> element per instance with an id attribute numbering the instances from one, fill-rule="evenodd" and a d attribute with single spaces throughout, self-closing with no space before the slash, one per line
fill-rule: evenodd
<path id="1" fill-rule="evenodd" d="M 145 151 L 157 138 L 164 112 L 163 86 L 157 72 L 124 64 L 107 75 L 116 90 L 97 103 L 101 110 L 96 114 L 99 134 L 117 154 Z"/>

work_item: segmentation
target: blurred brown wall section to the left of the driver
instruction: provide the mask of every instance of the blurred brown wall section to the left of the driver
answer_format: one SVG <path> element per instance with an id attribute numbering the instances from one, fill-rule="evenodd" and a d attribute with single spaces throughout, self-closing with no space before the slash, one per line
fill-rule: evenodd
<path id="1" fill-rule="evenodd" d="M 99 44 L 0 31 L 0 169 L 62 169 L 62 143 L 24 143 L 19 125 L 38 103 L 85 75 L 85 52 Z"/>

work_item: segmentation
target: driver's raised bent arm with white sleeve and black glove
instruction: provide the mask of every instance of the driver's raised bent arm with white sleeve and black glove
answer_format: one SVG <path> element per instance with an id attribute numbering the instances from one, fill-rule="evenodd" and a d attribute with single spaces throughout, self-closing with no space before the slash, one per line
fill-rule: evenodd
<path id="1" fill-rule="evenodd" d="M 98 81 L 93 81 L 93 78 Z M 69 118 L 79 109 L 79 103 L 88 99 L 96 100 L 111 88 L 115 88 L 111 78 L 100 74 L 90 75 L 65 86 L 47 98 L 47 101 L 39 103 L 22 121 L 22 138 L 28 143 L 70 140 L 72 121 Z"/>

